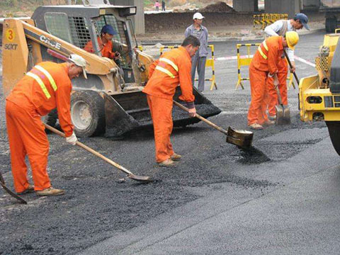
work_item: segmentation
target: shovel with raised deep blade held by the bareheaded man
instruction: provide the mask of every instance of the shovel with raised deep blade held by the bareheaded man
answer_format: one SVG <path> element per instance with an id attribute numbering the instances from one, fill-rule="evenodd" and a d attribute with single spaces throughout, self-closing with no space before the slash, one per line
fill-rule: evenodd
<path id="1" fill-rule="evenodd" d="M 179 108 L 183 109 L 184 111 L 189 112 L 189 109 L 185 106 L 182 106 L 181 103 L 178 103 L 174 101 L 174 104 L 176 106 L 179 106 Z M 251 142 L 253 141 L 253 132 L 247 131 L 247 130 L 235 130 L 234 128 L 229 127 L 228 131 L 224 130 L 223 128 L 220 128 L 219 126 L 215 125 L 211 121 L 203 118 L 202 116 L 198 115 L 196 113 L 196 118 L 199 118 L 203 122 L 210 125 L 212 128 L 217 129 L 218 131 L 222 132 L 223 134 L 227 135 L 227 142 L 231 143 L 232 145 L 237 145 L 238 147 L 242 149 L 250 149 L 251 148 Z"/>

